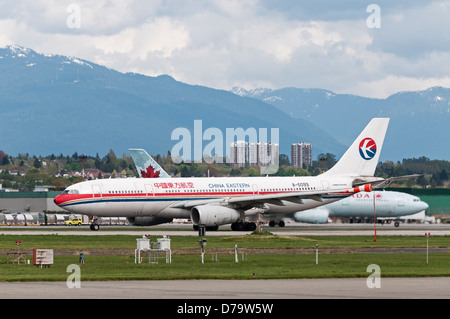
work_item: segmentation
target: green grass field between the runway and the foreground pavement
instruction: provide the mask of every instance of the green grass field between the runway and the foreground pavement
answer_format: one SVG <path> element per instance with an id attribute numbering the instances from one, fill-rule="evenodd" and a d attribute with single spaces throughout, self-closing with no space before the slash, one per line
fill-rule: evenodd
<path id="1" fill-rule="evenodd" d="M 322 237 L 322 236 L 206 236 L 205 263 L 200 257 L 199 237 L 172 236 L 172 263 L 160 260 L 149 264 L 135 263 L 136 236 L 58 236 L 58 235 L 0 235 L 0 281 L 65 281 L 70 272 L 67 266 L 77 264 L 79 253 L 85 253 L 85 264 L 80 265 L 81 280 L 161 280 L 161 279 L 273 279 L 273 278 L 330 278 L 367 277 L 367 267 L 377 264 L 385 277 L 450 276 L 450 254 L 430 253 L 426 264 L 424 237 Z M 54 264 L 37 268 L 27 264 L 7 264 L 6 252 L 15 250 L 16 240 L 21 249 L 51 248 L 55 250 Z M 156 241 L 156 237 L 152 238 Z M 319 263 L 316 265 L 315 245 L 319 244 Z M 246 260 L 239 255 L 218 254 L 213 262 L 213 251 L 218 248 L 247 248 Z M 423 248 L 415 253 L 398 253 L 402 248 Z M 432 237 L 430 248 L 449 247 L 449 237 Z M 334 253 L 333 248 L 345 248 Z M 352 250 L 367 248 L 368 253 Z M 378 252 L 379 248 L 386 248 Z M 266 253 L 252 253 L 252 249 L 266 249 Z M 277 253 L 282 249 L 288 253 Z M 327 249 L 330 249 L 327 251 Z M 371 252 L 373 249 L 374 253 Z M 101 250 L 102 253 L 96 253 Z M 292 250 L 292 253 L 289 253 Z M 299 253 L 298 250 L 301 250 Z M 59 254 L 66 251 L 66 255 Z M 129 251 L 129 253 L 128 253 Z M 331 253 L 330 253 L 331 251 Z M 322 252 L 322 253 L 321 253 Z M 215 256 L 215 255 L 214 255 Z M 32 255 L 28 255 L 32 260 Z M 32 262 L 31 262 L 32 263 Z M 254 274 L 254 275 L 253 275 Z"/>

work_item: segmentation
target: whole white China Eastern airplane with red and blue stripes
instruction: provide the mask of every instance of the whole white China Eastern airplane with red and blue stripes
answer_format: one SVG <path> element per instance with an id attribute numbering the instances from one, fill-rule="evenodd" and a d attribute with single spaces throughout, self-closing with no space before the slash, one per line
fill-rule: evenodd
<path id="1" fill-rule="evenodd" d="M 225 224 L 253 230 L 255 223 L 245 218 L 256 212 L 295 213 L 389 184 L 374 177 L 388 124 L 388 118 L 372 119 L 339 162 L 319 176 L 91 180 L 67 187 L 55 203 L 73 213 L 127 217 L 141 225 L 190 218 L 199 235 Z"/>

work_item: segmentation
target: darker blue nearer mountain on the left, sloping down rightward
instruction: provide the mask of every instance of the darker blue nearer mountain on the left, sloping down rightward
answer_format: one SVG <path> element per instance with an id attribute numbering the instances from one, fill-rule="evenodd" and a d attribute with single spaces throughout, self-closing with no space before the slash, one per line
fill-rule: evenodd
<path id="1" fill-rule="evenodd" d="M 224 144 L 226 128 L 279 128 L 281 153 L 299 141 L 313 143 L 317 155 L 345 150 L 330 134 L 257 99 L 20 46 L 0 49 L 0 149 L 8 154 L 120 154 L 130 147 L 165 154 L 179 142 L 171 136 L 176 128 L 190 130 L 194 145 L 197 119 L 203 131 L 219 128 Z"/>

